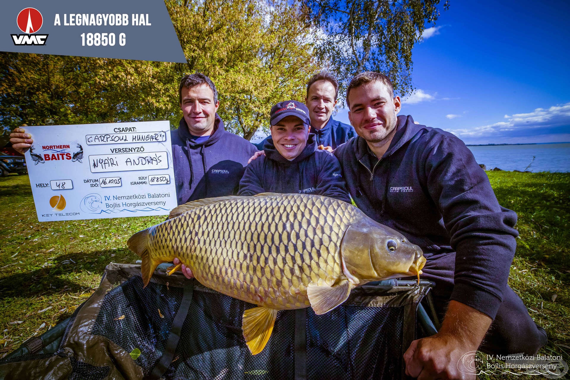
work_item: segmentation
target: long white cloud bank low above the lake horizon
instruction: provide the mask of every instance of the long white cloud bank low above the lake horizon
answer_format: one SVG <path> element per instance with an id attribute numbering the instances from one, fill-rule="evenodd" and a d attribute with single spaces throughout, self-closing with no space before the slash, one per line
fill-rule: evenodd
<path id="1" fill-rule="evenodd" d="M 454 129 L 449 132 L 463 140 L 466 138 L 512 138 L 532 137 L 549 133 L 568 133 L 570 130 L 570 103 L 553 105 L 547 109 L 536 108 L 529 113 L 505 115 L 504 118 L 508 121 L 499 121 L 475 128 Z"/>

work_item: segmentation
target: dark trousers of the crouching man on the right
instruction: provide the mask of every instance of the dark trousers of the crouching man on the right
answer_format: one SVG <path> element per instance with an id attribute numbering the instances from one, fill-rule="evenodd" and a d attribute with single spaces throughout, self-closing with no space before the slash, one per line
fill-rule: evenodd
<path id="1" fill-rule="evenodd" d="M 436 260 L 427 259 L 422 269 L 422 279 L 435 283 L 433 297 L 435 309 L 442 320 L 447 303 L 453 291 L 455 254 L 441 256 Z M 487 354 L 536 354 L 546 344 L 546 332 L 532 320 L 527 308 L 518 295 L 507 285 L 503 292 L 495 320 L 491 324 L 481 347 Z"/>

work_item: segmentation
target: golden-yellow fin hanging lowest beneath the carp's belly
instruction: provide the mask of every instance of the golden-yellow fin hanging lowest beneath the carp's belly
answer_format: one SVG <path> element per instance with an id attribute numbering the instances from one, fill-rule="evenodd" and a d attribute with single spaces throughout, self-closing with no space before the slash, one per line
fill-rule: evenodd
<path id="1" fill-rule="evenodd" d="M 277 311 L 278 310 L 259 306 L 257 308 L 247 309 L 243 312 L 243 337 L 252 355 L 262 352 L 267 344 L 271 332 L 273 331 Z"/>

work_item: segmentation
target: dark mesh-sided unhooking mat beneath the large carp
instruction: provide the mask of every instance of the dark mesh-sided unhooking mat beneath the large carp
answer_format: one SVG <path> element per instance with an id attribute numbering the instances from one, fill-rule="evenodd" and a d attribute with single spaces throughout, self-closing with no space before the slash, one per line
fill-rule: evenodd
<path id="1" fill-rule="evenodd" d="M 358 287 L 320 316 L 282 310 L 252 356 L 241 324 L 255 305 L 164 269 L 143 289 L 140 265 L 111 263 L 57 340 L 26 342 L 0 361 L 0 379 L 401 379 L 430 287 L 411 284 Z"/>

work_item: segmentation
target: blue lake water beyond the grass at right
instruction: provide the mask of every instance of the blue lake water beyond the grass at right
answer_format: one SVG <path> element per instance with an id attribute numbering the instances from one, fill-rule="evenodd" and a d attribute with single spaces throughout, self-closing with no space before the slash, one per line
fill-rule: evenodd
<path id="1" fill-rule="evenodd" d="M 485 164 L 487 170 L 498 167 L 503 170 L 570 171 L 570 143 L 469 146 L 477 164 Z"/>

